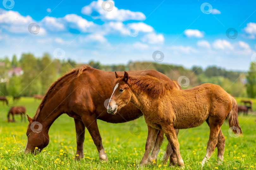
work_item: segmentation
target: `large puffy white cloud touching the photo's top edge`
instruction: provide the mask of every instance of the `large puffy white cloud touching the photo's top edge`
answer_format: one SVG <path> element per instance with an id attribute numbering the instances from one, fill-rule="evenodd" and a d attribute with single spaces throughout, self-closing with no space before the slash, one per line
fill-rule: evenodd
<path id="1" fill-rule="evenodd" d="M 146 16 L 141 12 L 133 12 L 125 9 L 118 9 L 114 5 L 114 1 L 109 1 L 109 4 L 113 4 L 111 11 L 105 11 L 102 8 L 103 0 L 93 1 L 89 5 L 82 8 L 81 13 L 91 16 L 94 11 L 99 13 L 99 16 L 94 18 L 100 18 L 101 20 L 116 20 L 116 21 L 127 21 L 127 20 L 144 20 Z M 104 7 L 104 6 L 103 6 Z M 106 6 L 108 8 L 108 6 Z"/>

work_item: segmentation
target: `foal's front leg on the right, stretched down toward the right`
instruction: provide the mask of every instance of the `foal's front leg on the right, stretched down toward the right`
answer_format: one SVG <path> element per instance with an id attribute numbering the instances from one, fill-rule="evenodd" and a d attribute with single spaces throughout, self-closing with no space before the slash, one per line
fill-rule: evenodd
<path id="1" fill-rule="evenodd" d="M 165 126 L 162 126 L 163 131 L 173 149 L 173 152 L 176 154 L 177 157 L 177 164 L 179 166 L 184 167 L 184 161 L 180 155 L 180 144 L 178 142 L 178 138 L 174 129 L 174 125 L 173 124 L 168 124 Z"/>

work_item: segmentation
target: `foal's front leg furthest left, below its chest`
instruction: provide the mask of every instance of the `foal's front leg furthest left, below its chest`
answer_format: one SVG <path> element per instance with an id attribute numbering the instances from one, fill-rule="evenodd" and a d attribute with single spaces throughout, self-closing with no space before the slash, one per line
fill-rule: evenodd
<path id="1" fill-rule="evenodd" d="M 148 164 L 149 153 L 153 148 L 154 141 L 157 137 L 158 132 L 159 132 L 158 129 L 155 129 L 148 125 L 148 138 L 146 141 L 144 156 L 143 156 L 142 160 L 140 161 L 140 166 L 145 166 Z"/>

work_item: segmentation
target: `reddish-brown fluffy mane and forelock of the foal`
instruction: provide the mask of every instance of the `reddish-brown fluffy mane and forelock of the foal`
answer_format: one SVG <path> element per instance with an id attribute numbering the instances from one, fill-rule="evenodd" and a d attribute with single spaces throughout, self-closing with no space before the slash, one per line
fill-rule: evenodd
<path id="1" fill-rule="evenodd" d="M 124 81 L 124 76 L 118 77 L 115 84 Z M 136 88 L 146 92 L 149 96 L 158 97 L 165 94 L 168 90 L 172 89 L 169 82 L 162 79 L 158 79 L 152 76 L 129 76 L 127 84 L 129 86 L 133 85 Z"/>

